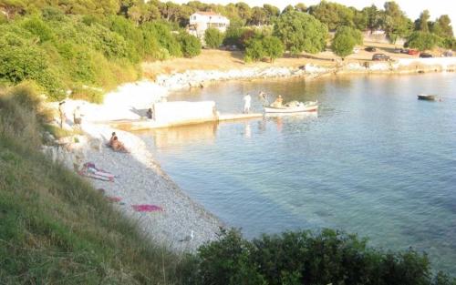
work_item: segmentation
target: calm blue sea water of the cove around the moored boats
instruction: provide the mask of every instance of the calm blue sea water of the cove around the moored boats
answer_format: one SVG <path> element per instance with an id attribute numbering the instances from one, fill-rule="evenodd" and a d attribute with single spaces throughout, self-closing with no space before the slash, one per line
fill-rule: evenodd
<path id="1" fill-rule="evenodd" d="M 384 249 L 426 250 L 456 274 L 455 74 L 225 82 L 170 99 L 238 112 L 250 92 L 260 110 L 260 90 L 321 108 L 142 137 L 181 188 L 248 238 L 343 229 Z"/>

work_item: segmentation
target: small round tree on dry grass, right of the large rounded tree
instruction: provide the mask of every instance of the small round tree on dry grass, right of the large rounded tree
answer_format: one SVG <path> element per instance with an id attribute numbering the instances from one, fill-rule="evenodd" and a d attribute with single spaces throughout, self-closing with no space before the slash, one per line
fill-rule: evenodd
<path id="1" fill-rule="evenodd" d="M 353 52 L 353 47 L 363 44 L 361 32 L 349 26 L 337 28 L 331 48 L 337 56 L 348 56 Z"/>

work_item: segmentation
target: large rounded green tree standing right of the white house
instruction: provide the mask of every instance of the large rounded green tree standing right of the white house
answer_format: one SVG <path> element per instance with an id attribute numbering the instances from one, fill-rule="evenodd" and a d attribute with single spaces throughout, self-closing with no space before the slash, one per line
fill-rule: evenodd
<path id="1" fill-rule="evenodd" d="M 274 33 L 293 54 L 303 51 L 316 54 L 326 46 L 326 25 L 306 13 L 290 11 L 280 15 Z"/>

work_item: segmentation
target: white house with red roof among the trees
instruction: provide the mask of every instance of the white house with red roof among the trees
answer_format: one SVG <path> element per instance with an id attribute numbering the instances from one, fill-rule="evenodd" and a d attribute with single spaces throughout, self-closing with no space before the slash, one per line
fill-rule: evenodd
<path id="1" fill-rule="evenodd" d="M 226 32 L 226 28 L 230 25 L 230 20 L 220 14 L 214 12 L 195 12 L 190 15 L 189 33 L 199 39 L 204 38 L 204 32 L 214 27 L 221 31 Z"/>

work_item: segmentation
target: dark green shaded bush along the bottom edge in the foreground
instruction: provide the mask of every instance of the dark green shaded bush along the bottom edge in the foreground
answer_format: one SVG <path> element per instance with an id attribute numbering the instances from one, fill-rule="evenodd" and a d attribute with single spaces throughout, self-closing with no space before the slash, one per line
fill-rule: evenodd
<path id="1" fill-rule="evenodd" d="M 202 246 L 189 280 L 194 284 L 452 284 L 431 280 L 425 254 L 413 249 L 384 252 L 332 229 L 285 232 L 247 241 L 236 230 Z M 244 282 L 235 281 L 242 280 Z"/>

